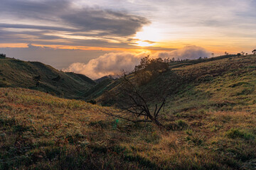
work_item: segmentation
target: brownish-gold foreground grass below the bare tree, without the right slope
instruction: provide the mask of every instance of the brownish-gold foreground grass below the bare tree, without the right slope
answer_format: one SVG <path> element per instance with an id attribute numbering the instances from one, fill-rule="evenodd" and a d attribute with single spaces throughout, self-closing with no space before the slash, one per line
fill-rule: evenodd
<path id="1" fill-rule="evenodd" d="M 160 131 L 99 108 L 0 89 L 0 169 L 255 169 L 254 112 L 183 110 Z"/>

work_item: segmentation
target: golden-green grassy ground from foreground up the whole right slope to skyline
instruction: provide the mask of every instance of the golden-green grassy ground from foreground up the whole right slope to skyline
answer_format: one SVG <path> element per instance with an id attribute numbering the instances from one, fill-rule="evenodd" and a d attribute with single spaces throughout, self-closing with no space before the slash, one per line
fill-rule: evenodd
<path id="1" fill-rule="evenodd" d="M 0 169 L 255 169 L 256 56 L 189 62 L 143 87 L 169 93 L 167 130 L 84 101 L 1 88 Z M 92 96 L 117 84 L 102 81 Z"/>

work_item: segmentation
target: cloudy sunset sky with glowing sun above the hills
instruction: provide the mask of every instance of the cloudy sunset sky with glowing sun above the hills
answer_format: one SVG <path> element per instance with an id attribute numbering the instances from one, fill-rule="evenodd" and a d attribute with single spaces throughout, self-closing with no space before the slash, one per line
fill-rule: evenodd
<path id="1" fill-rule="evenodd" d="M 255 0 L 1 0 L 0 53 L 97 79 L 256 48 Z"/>

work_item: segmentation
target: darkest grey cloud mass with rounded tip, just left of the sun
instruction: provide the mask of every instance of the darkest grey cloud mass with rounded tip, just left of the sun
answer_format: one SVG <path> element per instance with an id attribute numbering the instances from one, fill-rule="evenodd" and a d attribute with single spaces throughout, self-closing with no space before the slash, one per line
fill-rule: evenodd
<path id="1" fill-rule="evenodd" d="M 104 34 L 119 36 L 134 35 L 142 26 L 150 23 L 144 17 L 99 8 L 86 8 L 73 13 L 65 13 L 60 18 L 84 31 L 105 30 Z"/>

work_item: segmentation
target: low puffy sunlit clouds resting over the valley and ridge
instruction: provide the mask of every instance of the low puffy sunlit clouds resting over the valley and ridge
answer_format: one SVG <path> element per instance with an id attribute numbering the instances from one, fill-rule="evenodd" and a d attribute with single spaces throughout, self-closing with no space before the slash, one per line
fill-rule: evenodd
<path id="1" fill-rule="evenodd" d="M 111 52 L 102 55 L 96 59 L 90 60 L 87 64 L 76 62 L 70 64 L 65 72 L 75 72 L 85 74 L 92 79 L 98 79 L 110 74 L 119 74 L 124 70 L 125 72 L 132 72 L 134 67 L 139 64 L 142 57 L 150 55 L 149 52 Z M 151 57 L 176 58 L 176 59 L 198 59 L 199 57 L 210 57 L 210 52 L 203 47 L 187 46 L 182 49 L 173 50 L 171 52 L 156 52 L 151 54 Z"/>

